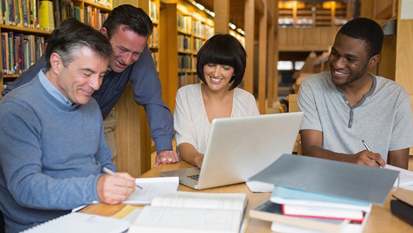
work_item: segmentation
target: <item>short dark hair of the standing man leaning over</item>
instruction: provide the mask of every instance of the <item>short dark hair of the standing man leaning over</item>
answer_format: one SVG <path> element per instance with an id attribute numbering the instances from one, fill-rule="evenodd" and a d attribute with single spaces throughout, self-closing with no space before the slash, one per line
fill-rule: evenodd
<path id="1" fill-rule="evenodd" d="M 153 24 L 151 18 L 142 8 L 130 4 L 115 7 L 109 13 L 102 27 L 106 28 L 108 38 L 111 39 L 121 24 L 144 37 L 149 37 L 152 34 Z"/>

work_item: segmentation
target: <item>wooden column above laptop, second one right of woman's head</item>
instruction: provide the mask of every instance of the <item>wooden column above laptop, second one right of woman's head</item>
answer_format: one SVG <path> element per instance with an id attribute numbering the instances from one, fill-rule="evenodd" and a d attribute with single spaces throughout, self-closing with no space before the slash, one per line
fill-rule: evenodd
<path id="1" fill-rule="evenodd" d="M 261 1 L 262 8 L 257 8 L 260 12 L 259 19 L 259 45 L 258 45 L 258 110 L 265 113 L 265 86 L 267 79 L 267 2 Z M 262 11 L 261 11 L 262 10 Z"/>

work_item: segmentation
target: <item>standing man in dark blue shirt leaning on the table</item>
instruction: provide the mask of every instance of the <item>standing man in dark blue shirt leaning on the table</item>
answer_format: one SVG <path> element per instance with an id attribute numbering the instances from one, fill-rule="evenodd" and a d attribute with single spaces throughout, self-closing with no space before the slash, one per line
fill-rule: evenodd
<path id="1" fill-rule="evenodd" d="M 146 45 L 152 29 L 150 17 L 141 8 L 125 4 L 112 10 L 101 28 L 101 33 L 109 38 L 115 55 L 109 62 L 101 88 L 92 97 L 98 102 L 105 119 L 107 140 L 114 138 L 115 124 L 112 126 L 107 124 L 114 122 L 110 112 L 130 80 L 135 101 L 144 107 L 151 128 L 151 137 L 155 141 L 157 150 L 155 167 L 159 164 L 178 162 L 179 157 L 172 149 L 174 137 L 172 113 L 162 100 L 161 82 Z M 8 85 L 2 94 L 6 95 L 16 87 L 29 82 L 45 67 L 46 61 L 43 56 L 15 82 Z M 107 126 L 112 129 L 107 130 Z M 112 148 L 112 152 L 115 158 L 116 149 Z"/>

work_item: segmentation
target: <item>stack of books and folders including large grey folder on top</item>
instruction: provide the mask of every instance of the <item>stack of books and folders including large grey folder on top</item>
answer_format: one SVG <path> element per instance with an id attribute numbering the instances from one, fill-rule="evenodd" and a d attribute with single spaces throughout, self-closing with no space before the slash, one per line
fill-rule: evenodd
<path id="1" fill-rule="evenodd" d="M 276 232 L 362 232 L 371 205 L 382 206 L 399 171 L 283 154 L 250 178 L 273 184 L 250 217 Z"/>

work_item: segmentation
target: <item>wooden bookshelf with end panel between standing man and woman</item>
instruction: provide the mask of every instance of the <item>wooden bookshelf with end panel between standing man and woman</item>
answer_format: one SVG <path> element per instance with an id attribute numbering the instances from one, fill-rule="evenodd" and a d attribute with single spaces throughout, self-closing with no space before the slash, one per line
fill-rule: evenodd
<path id="1" fill-rule="evenodd" d="M 214 21 L 191 3 L 180 0 L 160 4 L 159 76 L 162 96 L 174 111 L 175 95 L 184 85 L 199 83 L 196 54 L 214 34 Z M 167 38 L 167 39 L 163 39 Z"/>

